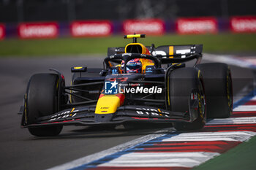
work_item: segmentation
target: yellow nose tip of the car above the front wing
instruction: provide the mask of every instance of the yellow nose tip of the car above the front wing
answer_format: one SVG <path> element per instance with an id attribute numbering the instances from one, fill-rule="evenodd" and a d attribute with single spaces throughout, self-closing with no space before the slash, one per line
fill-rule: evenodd
<path id="1" fill-rule="evenodd" d="M 110 114 L 120 107 L 120 98 L 116 95 L 105 95 L 98 99 L 95 114 Z"/>

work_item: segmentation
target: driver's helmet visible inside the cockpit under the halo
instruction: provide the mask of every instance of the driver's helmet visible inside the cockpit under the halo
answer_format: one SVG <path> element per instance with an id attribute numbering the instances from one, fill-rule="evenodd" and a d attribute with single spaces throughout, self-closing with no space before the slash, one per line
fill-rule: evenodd
<path id="1" fill-rule="evenodd" d="M 124 61 L 121 62 L 121 67 L 124 70 Z M 142 63 L 139 58 L 132 59 L 127 62 L 127 73 L 141 73 Z"/>

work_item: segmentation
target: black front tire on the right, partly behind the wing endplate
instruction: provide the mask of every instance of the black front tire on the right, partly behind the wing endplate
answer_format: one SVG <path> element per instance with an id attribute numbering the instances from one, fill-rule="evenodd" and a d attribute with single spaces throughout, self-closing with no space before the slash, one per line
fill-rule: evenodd
<path id="1" fill-rule="evenodd" d="M 192 97 L 192 91 L 196 92 L 196 98 L 198 99 L 197 118 L 191 123 L 173 123 L 173 127 L 177 131 L 192 131 L 203 128 L 206 123 L 206 102 L 200 71 L 189 67 L 175 69 L 170 72 L 168 82 L 170 111 L 189 112 L 189 98 Z"/>

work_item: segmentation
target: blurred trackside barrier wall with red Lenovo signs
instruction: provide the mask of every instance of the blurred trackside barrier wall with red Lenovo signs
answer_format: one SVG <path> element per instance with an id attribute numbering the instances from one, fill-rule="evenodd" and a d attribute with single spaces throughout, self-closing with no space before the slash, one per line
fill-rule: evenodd
<path id="1" fill-rule="evenodd" d="M 177 18 L 176 20 L 75 20 L 71 23 L 0 23 L 0 39 L 19 37 L 20 39 L 56 38 L 59 36 L 91 37 L 113 34 L 217 34 L 256 33 L 256 16 L 225 18 Z"/>

